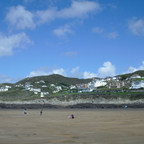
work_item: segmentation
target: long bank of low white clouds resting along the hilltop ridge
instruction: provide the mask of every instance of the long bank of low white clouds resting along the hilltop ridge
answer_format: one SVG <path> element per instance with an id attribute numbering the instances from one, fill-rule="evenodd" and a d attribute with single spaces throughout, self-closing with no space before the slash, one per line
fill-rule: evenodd
<path id="1" fill-rule="evenodd" d="M 30 72 L 30 74 L 28 75 L 28 77 L 34 77 L 34 76 L 40 76 L 40 75 L 50 75 L 50 74 L 60 74 L 63 76 L 70 76 L 70 77 L 79 77 L 79 78 L 93 78 L 93 77 L 101 77 L 101 78 L 105 78 L 107 76 L 115 76 L 115 66 L 112 65 L 111 62 L 104 62 L 103 67 L 100 67 L 98 69 L 98 73 L 93 73 L 93 72 L 89 72 L 89 71 L 85 71 L 85 72 L 79 72 L 80 67 L 77 66 L 75 68 L 73 68 L 71 71 L 67 71 L 66 74 L 66 70 L 64 70 L 63 68 L 60 69 L 47 69 L 47 68 L 40 68 L 39 70 L 36 71 L 32 71 Z"/>

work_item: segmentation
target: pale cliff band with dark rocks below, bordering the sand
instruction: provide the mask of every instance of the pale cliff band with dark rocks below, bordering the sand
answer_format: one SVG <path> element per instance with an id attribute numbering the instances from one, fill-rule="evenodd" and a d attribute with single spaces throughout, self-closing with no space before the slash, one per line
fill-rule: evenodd
<path id="1" fill-rule="evenodd" d="M 32 109 L 32 108 L 144 108 L 144 100 L 124 100 L 124 99 L 77 99 L 60 101 L 56 98 L 46 100 L 37 99 L 34 101 L 0 101 L 0 108 Z"/>

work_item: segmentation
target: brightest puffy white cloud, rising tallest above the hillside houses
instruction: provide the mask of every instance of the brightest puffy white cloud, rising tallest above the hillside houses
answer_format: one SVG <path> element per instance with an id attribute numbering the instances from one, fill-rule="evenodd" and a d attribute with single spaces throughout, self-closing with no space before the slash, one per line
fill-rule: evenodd
<path id="1" fill-rule="evenodd" d="M 98 69 L 98 77 L 115 76 L 116 68 L 111 62 L 104 62 L 103 67 Z"/>

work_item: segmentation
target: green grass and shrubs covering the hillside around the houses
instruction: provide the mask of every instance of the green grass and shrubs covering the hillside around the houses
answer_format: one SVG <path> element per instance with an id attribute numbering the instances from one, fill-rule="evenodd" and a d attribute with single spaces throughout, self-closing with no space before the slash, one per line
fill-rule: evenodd
<path id="1" fill-rule="evenodd" d="M 137 71 L 131 74 L 124 74 L 121 75 L 121 81 L 125 81 L 127 78 L 132 76 L 133 74 L 139 74 L 141 77 L 144 77 L 144 71 Z M 44 83 L 41 83 L 40 81 L 44 81 Z M 137 79 L 137 80 L 143 80 L 143 78 Z M 12 88 L 9 89 L 9 91 L 0 92 L 0 100 L 2 101 L 14 101 L 14 100 L 34 100 L 37 98 L 40 98 L 40 93 L 34 94 L 32 91 L 25 90 L 23 87 L 16 87 L 18 84 L 25 85 L 25 83 L 29 83 L 30 85 L 33 85 L 34 88 L 40 88 L 43 92 L 49 92 L 49 95 L 45 96 L 45 98 L 50 97 L 61 97 L 62 99 L 67 96 L 67 98 L 70 97 L 84 97 L 94 95 L 101 96 L 103 98 L 128 98 L 131 100 L 136 99 L 144 99 L 144 93 L 141 91 L 129 91 L 127 87 L 123 87 L 121 89 L 115 88 L 115 89 L 109 89 L 107 87 L 99 87 L 96 91 L 92 93 L 77 93 L 76 89 L 72 89 L 71 91 L 68 89 L 70 85 L 76 85 L 76 84 L 82 84 L 82 83 L 89 83 L 92 79 L 78 79 L 78 78 L 68 78 L 64 77 L 58 74 L 48 75 L 48 76 L 37 76 L 37 77 L 31 77 L 31 78 L 25 78 L 23 80 L 18 81 L 15 84 L 10 83 L 3 83 L 0 84 L 0 87 L 4 85 L 9 85 Z M 37 83 L 40 82 L 40 83 Z M 51 84 L 54 84 L 56 86 L 61 86 L 63 90 L 60 92 L 53 94 L 52 92 L 55 90 L 55 87 L 51 86 Z M 45 85 L 46 87 L 42 87 Z"/>

